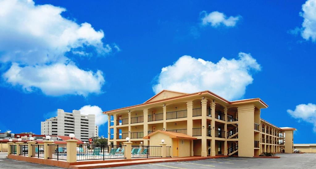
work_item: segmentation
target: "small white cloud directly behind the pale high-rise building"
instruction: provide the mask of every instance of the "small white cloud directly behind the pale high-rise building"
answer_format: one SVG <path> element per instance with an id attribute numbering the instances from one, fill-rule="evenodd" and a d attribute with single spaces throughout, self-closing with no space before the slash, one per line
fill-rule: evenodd
<path id="1" fill-rule="evenodd" d="M 85 105 L 82 108 L 80 108 L 80 112 L 84 115 L 94 114 L 95 125 L 97 126 L 107 123 L 107 115 L 103 114 L 102 109 L 98 106 Z"/>

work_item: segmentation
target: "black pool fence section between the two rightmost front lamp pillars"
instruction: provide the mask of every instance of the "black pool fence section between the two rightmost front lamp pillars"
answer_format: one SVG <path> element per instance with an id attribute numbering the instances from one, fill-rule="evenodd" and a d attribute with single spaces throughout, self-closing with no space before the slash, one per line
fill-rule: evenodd
<path id="1" fill-rule="evenodd" d="M 162 146 L 132 145 L 131 157 L 132 158 L 162 157 L 161 147 Z"/>

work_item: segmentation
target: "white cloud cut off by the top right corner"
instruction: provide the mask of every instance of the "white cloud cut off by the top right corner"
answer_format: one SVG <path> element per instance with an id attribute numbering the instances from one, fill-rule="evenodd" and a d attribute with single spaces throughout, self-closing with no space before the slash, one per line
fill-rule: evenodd
<path id="1" fill-rule="evenodd" d="M 313 42 L 316 41 L 316 0 L 308 0 L 302 5 L 301 17 L 304 18 L 302 23 L 301 36 Z"/>

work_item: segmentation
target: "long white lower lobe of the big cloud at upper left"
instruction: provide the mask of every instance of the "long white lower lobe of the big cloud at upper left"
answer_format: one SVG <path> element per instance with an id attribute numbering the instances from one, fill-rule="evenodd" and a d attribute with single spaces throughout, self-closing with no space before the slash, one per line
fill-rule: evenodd
<path id="1" fill-rule="evenodd" d="M 102 72 L 96 73 L 79 69 L 73 64 L 52 64 L 42 66 L 20 67 L 13 63 L 3 74 L 4 79 L 12 85 L 20 85 L 24 90 L 32 92 L 40 88 L 51 96 L 77 94 L 87 96 L 88 93 L 100 93 L 104 78 Z"/>

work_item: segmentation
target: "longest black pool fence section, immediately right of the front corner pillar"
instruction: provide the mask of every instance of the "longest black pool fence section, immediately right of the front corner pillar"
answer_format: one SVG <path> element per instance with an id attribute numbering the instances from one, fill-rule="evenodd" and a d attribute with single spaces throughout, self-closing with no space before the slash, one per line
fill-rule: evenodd
<path id="1" fill-rule="evenodd" d="M 77 145 L 77 161 L 125 159 L 125 149 L 125 145 L 80 144 Z"/>

